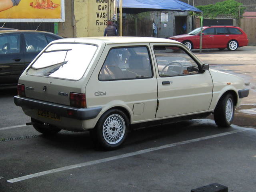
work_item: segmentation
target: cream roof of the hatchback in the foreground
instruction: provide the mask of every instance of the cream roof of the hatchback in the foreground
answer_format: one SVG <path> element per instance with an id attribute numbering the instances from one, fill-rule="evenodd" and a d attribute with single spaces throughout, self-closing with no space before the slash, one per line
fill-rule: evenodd
<path id="1" fill-rule="evenodd" d="M 165 38 L 154 38 L 154 37 L 80 37 L 80 38 L 65 38 L 60 40 L 55 40 L 54 42 L 80 42 L 80 43 L 92 43 L 92 44 L 117 44 L 117 43 L 176 43 L 177 41 L 165 39 Z"/>

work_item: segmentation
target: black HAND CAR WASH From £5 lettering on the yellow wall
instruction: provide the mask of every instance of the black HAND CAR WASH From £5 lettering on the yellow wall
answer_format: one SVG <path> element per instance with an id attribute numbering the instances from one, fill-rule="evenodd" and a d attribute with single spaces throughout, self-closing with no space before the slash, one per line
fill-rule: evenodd
<path id="1" fill-rule="evenodd" d="M 108 24 L 108 0 L 96 0 L 96 26 L 107 26 Z"/>

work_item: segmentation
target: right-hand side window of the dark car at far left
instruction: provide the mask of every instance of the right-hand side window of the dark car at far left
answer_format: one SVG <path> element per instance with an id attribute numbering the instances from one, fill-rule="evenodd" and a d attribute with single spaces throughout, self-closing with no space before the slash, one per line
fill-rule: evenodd
<path id="1" fill-rule="evenodd" d="M 26 52 L 40 52 L 47 44 L 46 37 L 42 34 L 24 34 Z"/>

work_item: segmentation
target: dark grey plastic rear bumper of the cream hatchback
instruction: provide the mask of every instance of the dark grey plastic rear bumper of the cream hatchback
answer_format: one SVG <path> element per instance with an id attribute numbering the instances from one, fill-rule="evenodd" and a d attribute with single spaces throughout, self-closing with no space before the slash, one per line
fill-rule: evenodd
<path id="1" fill-rule="evenodd" d="M 44 101 L 30 99 L 30 98 L 24 98 L 20 96 L 14 96 L 14 103 L 17 106 L 21 106 L 21 107 L 26 106 L 29 108 L 49 110 L 51 112 L 55 112 L 56 114 L 59 114 L 60 116 L 78 119 L 78 120 L 93 119 L 102 110 L 102 107 L 76 108 L 76 107 L 44 102 Z M 74 111 L 74 116 L 68 116 L 68 112 L 67 112 L 68 110 Z"/>

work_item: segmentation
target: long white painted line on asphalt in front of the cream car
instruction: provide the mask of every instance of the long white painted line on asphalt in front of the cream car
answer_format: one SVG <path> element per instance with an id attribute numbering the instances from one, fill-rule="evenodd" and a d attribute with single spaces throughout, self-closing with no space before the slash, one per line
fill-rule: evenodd
<path id="1" fill-rule="evenodd" d="M 22 177 L 7 180 L 7 182 L 15 183 L 15 182 L 19 182 L 19 181 L 22 181 L 22 180 L 35 178 L 35 177 L 39 177 L 39 176 L 42 176 L 42 175 L 46 175 L 46 174 L 56 173 L 56 172 L 60 172 L 60 171 L 64 171 L 64 170 L 70 170 L 70 169 L 89 166 L 89 165 L 95 165 L 95 164 L 108 162 L 108 161 L 112 161 L 112 160 L 118 160 L 118 159 L 131 157 L 131 156 L 135 156 L 135 155 L 139 155 L 139 154 L 144 154 L 144 153 L 148 153 L 148 152 L 152 152 L 152 151 L 156 151 L 156 150 L 161 150 L 161 149 L 170 148 L 170 147 L 174 147 L 174 146 L 179 146 L 179 145 L 183 145 L 183 144 L 188 144 L 188 143 L 192 143 L 192 142 L 198 142 L 198 141 L 202 141 L 202 140 L 206 140 L 206 139 L 210 139 L 210 138 L 216 138 L 216 137 L 225 136 L 225 135 L 234 134 L 234 133 L 243 132 L 243 131 L 248 131 L 248 130 L 254 130 L 254 129 L 252 129 L 252 128 L 240 128 L 239 130 L 234 130 L 234 131 L 230 131 L 230 132 L 205 136 L 205 137 L 201 137 L 201 138 L 186 140 L 186 141 L 172 143 L 172 144 L 166 144 L 166 145 L 162 145 L 162 146 L 159 146 L 159 147 L 148 148 L 148 149 L 139 150 L 139 151 L 135 151 L 135 152 L 131 152 L 131 153 L 126 153 L 126 154 L 122 154 L 122 155 L 118 155 L 118 156 L 113 156 L 113 157 L 103 158 L 103 159 L 99 159 L 99 160 L 88 161 L 88 162 L 79 163 L 79 164 L 75 164 L 75 165 L 70 165 L 70 166 L 60 167 L 60 168 L 47 170 L 47 171 L 42 171 L 42 172 L 38 172 L 38 173 L 34 173 L 34 174 L 29 174 L 29 175 L 26 175 L 26 176 L 22 176 Z"/>

